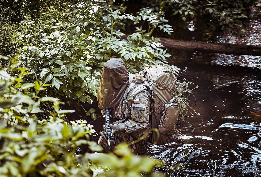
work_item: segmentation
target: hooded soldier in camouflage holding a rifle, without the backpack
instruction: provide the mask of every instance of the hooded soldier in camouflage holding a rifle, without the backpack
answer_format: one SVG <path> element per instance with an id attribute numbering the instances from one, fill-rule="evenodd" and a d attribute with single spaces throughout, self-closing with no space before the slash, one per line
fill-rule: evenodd
<path id="1" fill-rule="evenodd" d="M 109 126 L 115 139 L 111 141 L 113 147 L 126 142 L 134 154 L 141 155 L 147 151 L 150 135 L 149 106 L 150 96 L 145 90 L 131 99 L 131 106 L 127 105 L 126 96 L 133 88 L 141 85 L 143 77 L 129 73 L 125 62 L 120 58 L 111 58 L 104 63 L 99 88 L 97 92 L 99 109 L 105 115 L 109 108 L 112 124 Z M 123 99 L 124 98 L 124 99 Z M 115 124 L 114 124 L 114 123 Z M 105 128 L 105 126 L 104 126 Z M 108 140 L 104 131 L 101 132 L 99 145 L 108 149 Z"/>

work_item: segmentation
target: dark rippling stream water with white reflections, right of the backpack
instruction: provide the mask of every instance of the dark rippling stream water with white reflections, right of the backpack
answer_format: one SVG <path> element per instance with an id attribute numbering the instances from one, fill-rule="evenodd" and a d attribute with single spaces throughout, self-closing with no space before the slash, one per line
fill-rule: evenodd
<path id="1" fill-rule="evenodd" d="M 250 20 L 246 31 L 215 42 L 261 44 L 260 19 Z M 186 66 L 181 81 L 199 85 L 193 94 L 200 115 L 178 122 L 184 143 L 149 146 L 148 154 L 165 162 L 156 170 L 169 177 L 260 177 L 261 56 L 183 52 L 179 62 L 180 56 L 174 52 L 169 63 Z"/>

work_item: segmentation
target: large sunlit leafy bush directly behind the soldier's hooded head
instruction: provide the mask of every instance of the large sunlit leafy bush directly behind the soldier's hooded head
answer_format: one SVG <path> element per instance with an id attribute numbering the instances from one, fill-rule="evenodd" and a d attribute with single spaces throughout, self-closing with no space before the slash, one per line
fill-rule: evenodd
<path id="1" fill-rule="evenodd" d="M 44 83 L 52 81 L 57 88 L 53 92 L 92 103 L 98 86 L 97 71 L 108 59 L 122 57 L 131 72 L 137 72 L 149 58 L 166 62 L 165 57 L 170 55 L 160 48 L 163 46 L 157 39 L 149 40 L 140 32 L 121 39 L 124 34 L 114 30 L 116 24 L 124 19 L 134 20 L 134 16 L 121 9 L 113 10 L 113 2 L 71 5 L 62 14 L 66 22 L 54 23 L 51 29 L 56 31 L 49 35 L 42 32 L 45 37 L 41 39 L 39 55 L 49 67 L 41 69 L 40 76 Z"/>

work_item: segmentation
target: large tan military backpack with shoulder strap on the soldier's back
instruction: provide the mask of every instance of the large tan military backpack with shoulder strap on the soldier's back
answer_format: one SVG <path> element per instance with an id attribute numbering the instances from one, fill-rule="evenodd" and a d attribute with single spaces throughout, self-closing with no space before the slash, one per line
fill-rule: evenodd
<path id="1" fill-rule="evenodd" d="M 176 122 L 180 114 L 174 98 L 176 72 L 165 66 L 146 67 L 139 74 L 144 78 L 143 84 L 138 85 L 128 93 L 128 106 L 134 103 L 137 93 L 147 90 L 151 95 L 151 124 L 152 131 L 149 142 L 157 145 L 165 144 L 176 131 Z"/>

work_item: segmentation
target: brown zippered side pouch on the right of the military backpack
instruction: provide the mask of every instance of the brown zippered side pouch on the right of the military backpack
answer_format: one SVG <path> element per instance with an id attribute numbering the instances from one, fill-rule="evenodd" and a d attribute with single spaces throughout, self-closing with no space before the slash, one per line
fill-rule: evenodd
<path id="1" fill-rule="evenodd" d="M 178 104 L 165 104 L 165 110 L 158 126 L 159 132 L 163 134 L 174 133 L 179 115 L 180 110 Z"/>

